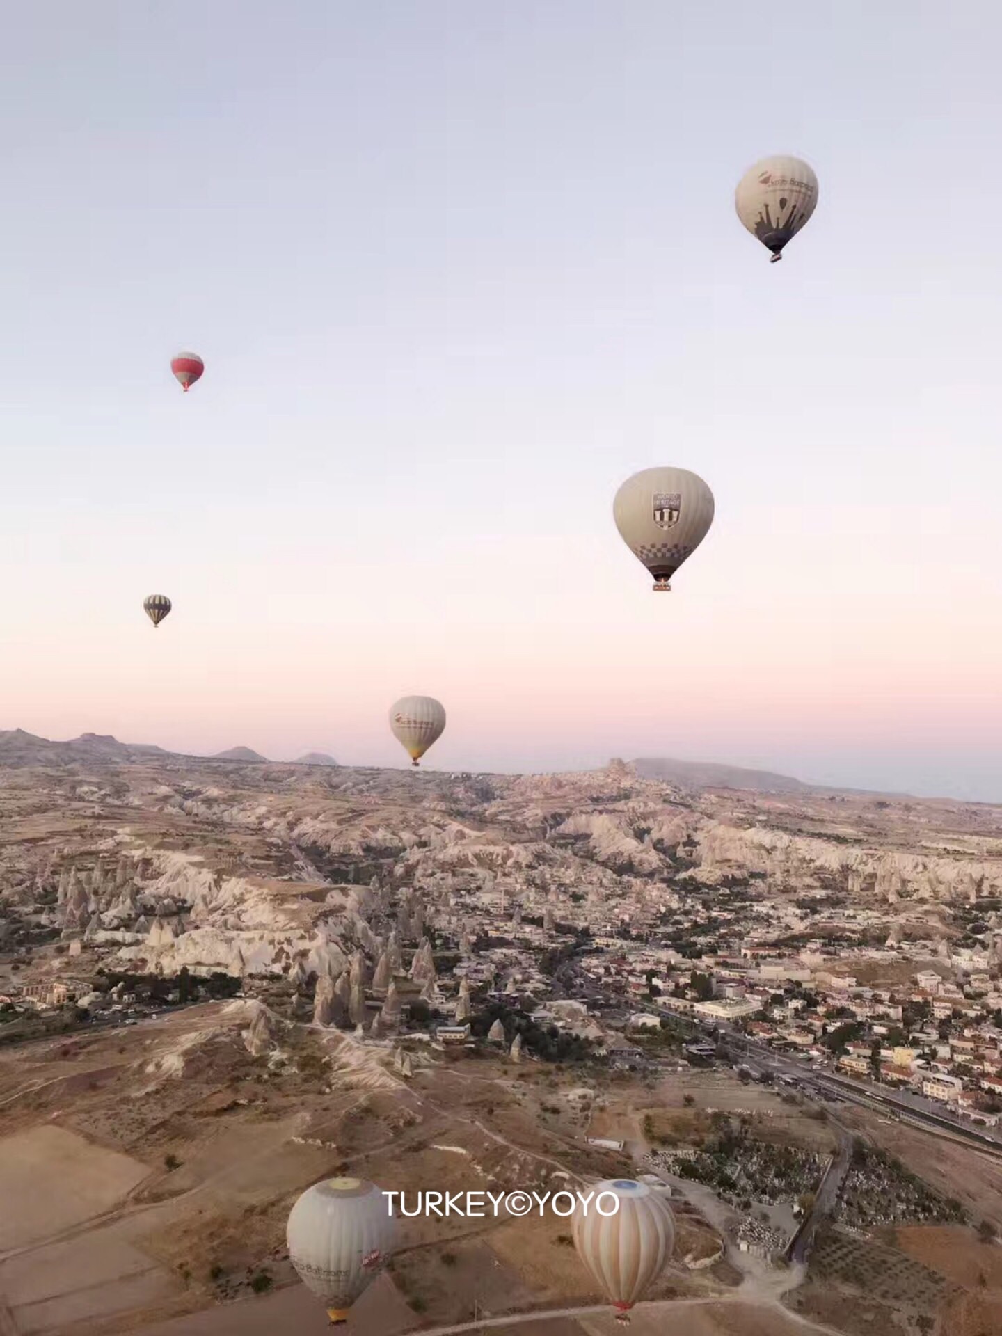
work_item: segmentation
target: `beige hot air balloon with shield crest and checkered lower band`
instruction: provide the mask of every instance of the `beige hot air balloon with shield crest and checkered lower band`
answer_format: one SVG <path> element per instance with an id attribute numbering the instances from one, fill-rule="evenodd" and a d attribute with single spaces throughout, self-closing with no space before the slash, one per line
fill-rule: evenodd
<path id="1" fill-rule="evenodd" d="M 643 469 L 619 489 L 612 513 L 623 541 L 655 577 L 655 589 L 665 591 L 713 522 L 713 493 L 688 469 Z"/>

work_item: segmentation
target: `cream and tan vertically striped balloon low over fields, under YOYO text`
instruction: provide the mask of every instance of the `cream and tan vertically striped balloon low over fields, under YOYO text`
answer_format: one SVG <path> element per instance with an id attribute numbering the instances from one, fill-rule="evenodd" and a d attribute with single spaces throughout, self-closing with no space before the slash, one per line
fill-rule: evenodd
<path id="1" fill-rule="evenodd" d="M 601 1214 L 597 1204 L 603 1193 Z M 612 1201 L 619 1210 L 612 1214 Z M 578 1202 L 573 1218 L 577 1256 L 628 1323 L 629 1309 L 661 1273 L 675 1246 L 675 1217 L 668 1202 L 647 1184 L 613 1178 L 595 1185 L 585 1210 Z"/>

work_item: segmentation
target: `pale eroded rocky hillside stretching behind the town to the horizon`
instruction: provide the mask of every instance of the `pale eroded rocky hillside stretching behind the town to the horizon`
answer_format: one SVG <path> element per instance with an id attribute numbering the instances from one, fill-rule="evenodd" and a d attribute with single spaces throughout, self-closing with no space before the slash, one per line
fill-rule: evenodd
<path id="1" fill-rule="evenodd" d="M 908 916 L 942 939 L 941 908 L 982 900 L 998 923 L 997 807 L 692 792 L 621 762 L 452 776 L 87 756 L 0 767 L 0 930 L 83 939 L 119 966 L 333 977 L 362 950 L 373 967 L 382 888 L 454 938 L 505 899 L 542 921 L 597 906 L 652 927 L 665 904 L 735 886 L 788 900 L 791 927 L 804 895 L 830 892 L 882 911 L 888 931 Z"/>

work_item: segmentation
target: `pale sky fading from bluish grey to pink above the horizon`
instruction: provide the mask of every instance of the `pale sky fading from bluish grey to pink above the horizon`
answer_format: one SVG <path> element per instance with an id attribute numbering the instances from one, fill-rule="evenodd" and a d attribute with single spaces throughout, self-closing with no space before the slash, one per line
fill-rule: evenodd
<path id="1" fill-rule="evenodd" d="M 995 4 L 1 11 L 0 727 L 1002 800 Z"/>

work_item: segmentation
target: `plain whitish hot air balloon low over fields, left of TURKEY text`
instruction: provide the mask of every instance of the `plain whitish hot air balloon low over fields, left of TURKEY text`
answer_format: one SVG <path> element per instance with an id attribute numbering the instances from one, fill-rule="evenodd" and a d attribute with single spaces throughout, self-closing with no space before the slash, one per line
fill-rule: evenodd
<path id="1" fill-rule="evenodd" d="M 386 1265 L 397 1242 L 387 1198 L 363 1178 L 326 1178 L 293 1206 L 286 1225 L 289 1259 L 299 1280 L 322 1299 L 331 1323 Z"/>

